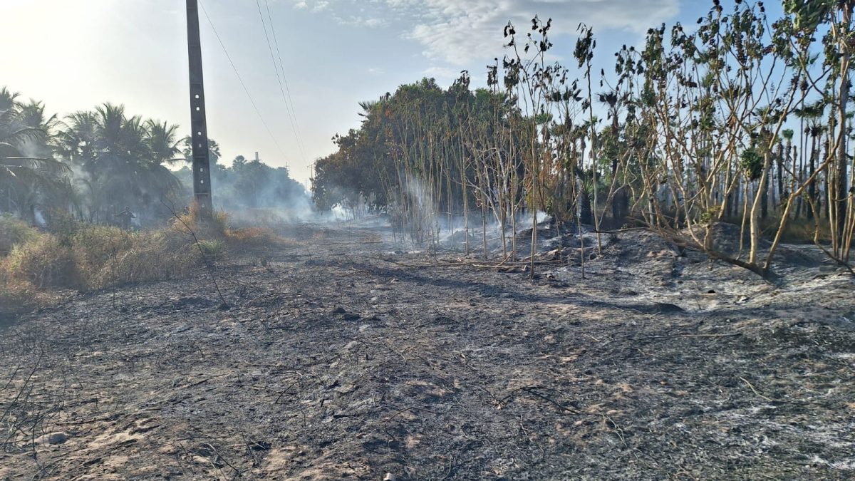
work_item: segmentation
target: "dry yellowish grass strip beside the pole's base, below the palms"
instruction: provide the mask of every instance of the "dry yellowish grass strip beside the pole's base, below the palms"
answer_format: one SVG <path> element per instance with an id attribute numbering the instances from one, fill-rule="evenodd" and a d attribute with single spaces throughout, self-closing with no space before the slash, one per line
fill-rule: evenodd
<path id="1" fill-rule="evenodd" d="M 42 232 L 0 217 L 0 316 L 50 304 L 62 289 L 91 291 L 186 277 L 205 258 L 222 258 L 227 250 L 290 244 L 272 229 L 230 229 L 222 211 L 200 220 L 194 208 L 164 229 L 143 232 L 76 222 Z"/>

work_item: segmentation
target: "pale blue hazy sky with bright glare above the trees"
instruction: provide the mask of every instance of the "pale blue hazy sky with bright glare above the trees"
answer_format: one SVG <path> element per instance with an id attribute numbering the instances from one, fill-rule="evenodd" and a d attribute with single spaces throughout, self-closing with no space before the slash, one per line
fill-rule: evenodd
<path id="1" fill-rule="evenodd" d="M 780 4 L 767 3 L 771 9 Z M 711 1 L 200 4 L 208 131 L 221 145 L 221 162 L 257 151 L 305 183 L 310 164 L 335 150 L 333 135 L 358 128 L 359 102 L 426 76 L 448 86 L 464 69 L 473 87 L 483 86 L 486 65 L 504 56 L 508 21 L 527 26 L 534 15 L 551 18 L 552 55 L 567 65 L 573 64 L 576 27 L 585 23 L 598 40 L 598 59 L 612 62 L 621 45 L 640 45 L 649 27 L 693 25 Z M 189 134 L 184 1 L 0 0 L 0 16 L 0 86 L 44 101 L 60 116 L 111 102 L 125 104 L 132 115 L 180 124 Z M 284 75 L 277 74 L 279 66 Z"/>

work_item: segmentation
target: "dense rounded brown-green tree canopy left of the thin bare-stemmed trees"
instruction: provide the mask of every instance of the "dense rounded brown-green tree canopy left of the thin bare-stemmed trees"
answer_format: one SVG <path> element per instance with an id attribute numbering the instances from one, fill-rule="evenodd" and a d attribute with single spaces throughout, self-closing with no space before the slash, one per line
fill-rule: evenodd
<path id="1" fill-rule="evenodd" d="M 500 94 L 470 92 L 468 80 L 443 90 L 425 78 L 360 106 L 361 128 L 333 137 L 338 151 L 315 163 L 312 189 L 321 210 L 354 205 L 360 196 L 385 209 L 403 201 L 408 179 L 442 178 L 454 185 L 436 186 L 439 208 L 460 213 L 463 196 L 474 199 L 469 186 L 460 185 L 475 180 L 475 164 L 466 159 L 486 148 L 470 142 L 472 129 L 490 130 L 493 118 L 521 115 Z"/>

